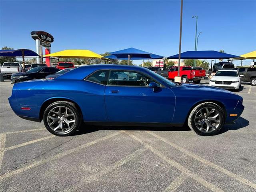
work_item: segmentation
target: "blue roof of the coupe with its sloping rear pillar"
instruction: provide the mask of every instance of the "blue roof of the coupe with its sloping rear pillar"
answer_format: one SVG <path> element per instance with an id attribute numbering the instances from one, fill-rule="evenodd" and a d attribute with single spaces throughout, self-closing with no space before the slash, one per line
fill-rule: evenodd
<path id="1" fill-rule="evenodd" d="M 116 64 L 95 64 L 85 65 L 75 68 L 68 73 L 59 76 L 56 79 L 82 80 L 96 70 L 135 70 L 146 72 L 148 69 L 139 66 L 116 65 Z"/>

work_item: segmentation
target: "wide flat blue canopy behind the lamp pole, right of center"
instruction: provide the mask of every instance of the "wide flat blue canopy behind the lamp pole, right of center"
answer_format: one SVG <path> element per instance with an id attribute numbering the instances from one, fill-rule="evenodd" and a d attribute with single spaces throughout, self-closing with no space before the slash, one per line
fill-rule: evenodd
<path id="1" fill-rule="evenodd" d="M 181 59 L 230 59 L 240 57 L 218 51 L 186 51 L 180 54 Z M 168 59 L 178 59 L 179 54 L 168 57 Z"/>

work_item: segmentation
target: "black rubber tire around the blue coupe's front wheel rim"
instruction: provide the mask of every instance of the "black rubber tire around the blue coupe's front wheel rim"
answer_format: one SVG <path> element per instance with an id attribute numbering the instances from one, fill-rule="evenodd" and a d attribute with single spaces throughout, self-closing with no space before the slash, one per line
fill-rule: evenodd
<path id="1" fill-rule="evenodd" d="M 207 124 L 214 124 L 212 123 L 212 120 L 205 120 L 207 117 L 203 116 L 203 125 L 201 130 L 196 126 L 196 120 L 198 119 L 198 117 L 196 118 L 196 115 L 201 111 L 204 110 L 205 108 L 208 109 L 214 109 L 215 111 L 212 113 L 212 115 L 216 115 L 217 113 L 219 114 L 217 116 L 218 118 L 218 126 L 216 127 L 217 124 L 215 124 L 216 129 L 214 128 L 209 128 L 210 131 L 206 132 L 207 129 Z M 200 118 L 200 117 L 199 117 Z M 198 121 L 199 123 L 202 121 Z M 188 127 L 193 130 L 196 134 L 201 135 L 201 136 L 212 136 L 215 135 L 217 132 L 220 131 L 220 129 L 222 128 L 223 124 L 225 122 L 225 115 L 224 112 L 222 110 L 222 108 L 220 106 L 218 106 L 216 103 L 213 102 L 205 102 L 205 103 L 201 103 L 198 104 L 196 107 L 194 107 L 194 109 L 190 112 L 189 116 L 188 116 Z M 211 125 L 212 126 L 212 125 Z M 214 125 L 213 125 L 214 126 Z"/>

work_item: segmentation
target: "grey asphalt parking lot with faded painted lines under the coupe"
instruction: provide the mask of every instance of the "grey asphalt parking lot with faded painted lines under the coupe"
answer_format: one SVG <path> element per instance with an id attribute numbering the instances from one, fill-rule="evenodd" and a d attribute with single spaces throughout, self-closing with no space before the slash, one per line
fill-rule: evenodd
<path id="1" fill-rule="evenodd" d="M 208 84 L 208 80 L 201 84 Z M 0 191 L 256 191 L 256 87 L 216 136 L 188 128 L 87 126 L 50 134 L 11 110 L 0 82 Z"/>

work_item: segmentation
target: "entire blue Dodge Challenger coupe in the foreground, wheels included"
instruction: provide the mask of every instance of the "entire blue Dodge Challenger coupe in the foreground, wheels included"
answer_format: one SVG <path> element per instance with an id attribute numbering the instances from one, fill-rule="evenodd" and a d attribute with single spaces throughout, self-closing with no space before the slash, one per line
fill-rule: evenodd
<path id="1" fill-rule="evenodd" d="M 53 80 L 15 84 L 9 98 L 21 118 L 44 121 L 58 136 L 82 123 L 94 125 L 183 126 L 216 134 L 243 112 L 242 97 L 197 84 L 173 83 L 146 68 L 89 65 Z"/>

